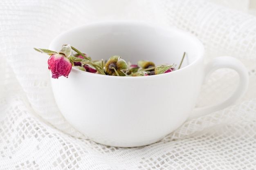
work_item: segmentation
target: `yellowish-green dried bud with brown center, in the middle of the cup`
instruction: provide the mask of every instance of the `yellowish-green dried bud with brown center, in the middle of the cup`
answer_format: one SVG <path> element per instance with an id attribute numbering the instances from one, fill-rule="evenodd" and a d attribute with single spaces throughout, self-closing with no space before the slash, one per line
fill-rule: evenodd
<path id="1" fill-rule="evenodd" d="M 125 76 L 125 73 L 122 70 L 127 68 L 127 63 L 118 55 L 111 56 L 105 65 L 105 71 L 108 75 Z"/>

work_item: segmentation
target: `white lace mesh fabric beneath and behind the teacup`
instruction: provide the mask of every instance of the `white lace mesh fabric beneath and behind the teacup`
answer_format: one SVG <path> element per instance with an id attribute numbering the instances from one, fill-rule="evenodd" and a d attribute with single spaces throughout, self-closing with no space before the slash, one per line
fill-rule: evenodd
<path id="1" fill-rule="evenodd" d="M 256 16 L 247 13 L 250 3 L 254 2 L 0 1 L 0 170 L 255 169 Z M 241 60 L 249 73 L 248 90 L 236 104 L 186 121 L 155 144 L 97 144 L 61 115 L 52 94 L 48 57 L 33 47 L 47 49 L 59 33 L 101 20 L 139 20 L 189 31 L 205 45 L 206 61 L 222 55 Z M 214 72 L 197 106 L 221 101 L 237 81 L 232 70 Z"/>

